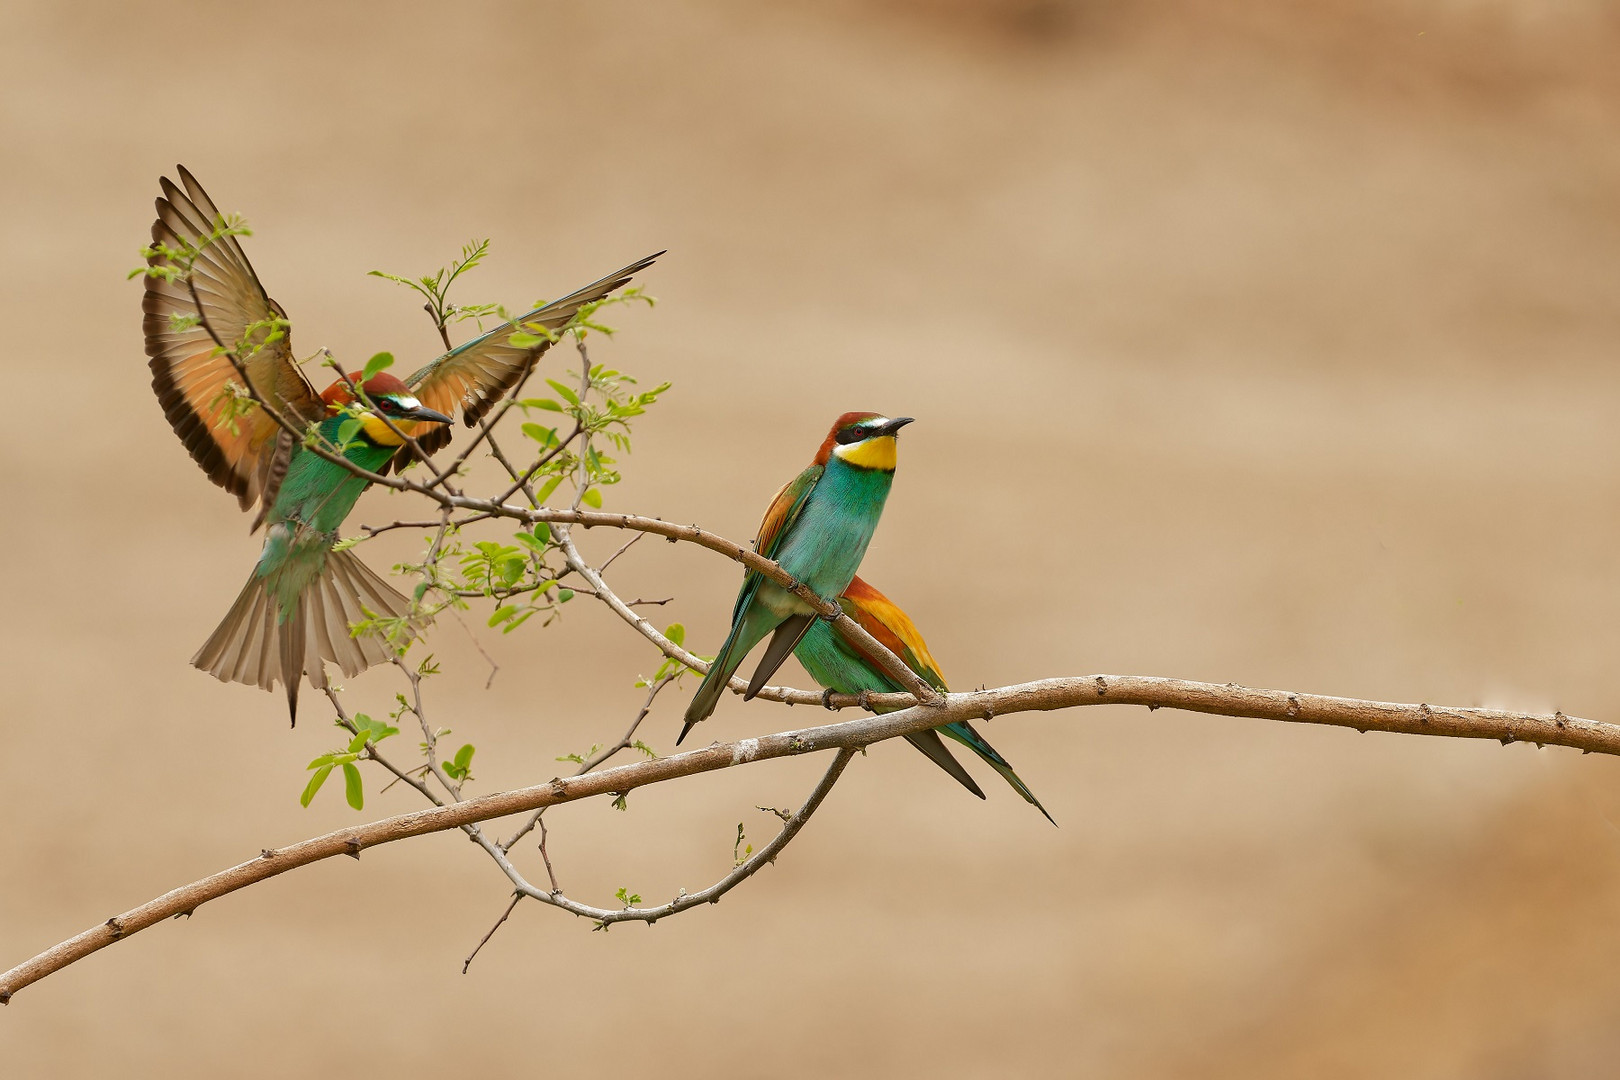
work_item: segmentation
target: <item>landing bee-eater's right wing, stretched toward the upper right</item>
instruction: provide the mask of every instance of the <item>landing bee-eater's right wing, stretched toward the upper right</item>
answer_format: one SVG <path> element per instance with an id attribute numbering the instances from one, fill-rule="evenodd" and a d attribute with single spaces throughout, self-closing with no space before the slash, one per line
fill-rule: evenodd
<path id="1" fill-rule="evenodd" d="M 664 253 L 650 254 L 514 322 L 502 322 L 489 334 L 452 348 L 407 379 L 405 385 L 416 392 L 416 400 L 446 416 L 454 416 L 455 410 L 460 410 L 462 421 L 471 427 L 528 374 L 539 355 L 551 348 L 551 342 L 523 348 L 512 345 L 512 335 L 520 330 L 517 324 L 539 324 L 556 334 L 578 314 L 580 308 L 629 285 L 632 277 L 653 266 L 661 254 Z M 416 442 L 424 452 L 433 453 L 450 442 L 450 427 L 434 424 L 420 432 Z"/>

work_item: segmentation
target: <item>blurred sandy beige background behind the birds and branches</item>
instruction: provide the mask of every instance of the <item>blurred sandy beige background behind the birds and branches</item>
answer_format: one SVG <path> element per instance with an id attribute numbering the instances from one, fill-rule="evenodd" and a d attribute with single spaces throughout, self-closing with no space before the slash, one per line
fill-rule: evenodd
<path id="1" fill-rule="evenodd" d="M 599 353 L 676 382 L 609 505 L 744 539 L 831 416 L 919 416 L 867 572 L 961 687 L 1100 670 L 1615 719 L 1610 11 L 13 0 L 0 967 L 356 818 L 298 806 L 334 742 L 313 704 L 288 732 L 186 665 L 258 541 L 164 424 L 123 280 L 177 160 L 251 219 L 295 347 L 356 363 L 434 351 L 368 269 L 489 235 L 465 298 L 517 304 L 669 248 L 661 306 Z M 642 544 L 614 572 L 718 644 L 731 563 Z M 656 665 L 585 599 L 484 641 L 488 693 L 460 628 L 433 641 L 478 790 L 617 735 Z M 729 701 L 705 733 L 810 721 Z M 1132 709 L 988 733 L 1059 829 L 885 745 L 718 908 L 593 934 L 525 905 L 467 976 L 504 881 L 457 836 L 397 845 L 28 989 L 0 1072 L 1614 1074 L 1617 763 Z M 562 882 L 701 887 L 816 767 L 559 811 Z"/>

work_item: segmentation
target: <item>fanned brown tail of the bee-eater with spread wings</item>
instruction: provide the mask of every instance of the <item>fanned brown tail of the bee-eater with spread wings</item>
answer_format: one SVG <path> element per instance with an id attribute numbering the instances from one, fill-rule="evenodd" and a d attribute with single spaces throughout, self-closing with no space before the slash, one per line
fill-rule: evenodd
<path id="1" fill-rule="evenodd" d="M 305 586 L 293 610 L 285 615 L 266 578 L 254 572 L 191 664 L 220 682 L 262 690 L 280 683 L 287 688 L 287 708 L 296 722 L 301 675 L 309 677 L 311 687 L 324 688 L 327 661 L 352 678 L 395 656 L 394 646 L 381 636 L 350 633 L 352 623 L 373 615 L 410 615 L 410 601 L 352 552 L 327 552 L 321 573 Z"/>

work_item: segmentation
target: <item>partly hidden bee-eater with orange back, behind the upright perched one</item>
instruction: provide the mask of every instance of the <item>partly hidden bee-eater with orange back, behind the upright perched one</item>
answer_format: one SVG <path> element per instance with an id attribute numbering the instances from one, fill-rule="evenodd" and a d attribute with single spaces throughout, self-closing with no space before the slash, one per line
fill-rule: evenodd
<path id="1" fill-rule="evenodd" d="M 928 654 L 928 643 L 922 640 L 922 633 L 917 631 L 915 623 L 912 623 L 894 601 L 862 581 L 857 575 L 849 583 L 849 588 L 844 589 L 844 594 L 838 597 L 838 604 L 844 609 L 846 615 L 859 622 L 889 653 L 906 661 L 906 665 L 917 672 L 919 678 L 940 693 L 946 693 L 944 675 L 940 674 L 940 665 Z M 854 641 L 821 619 L 810 627 L 804 641 L 794 649 L 794 656 L 810 672 L 810 678 L 815 678 L 833 693 L 862 693 L 868 690 L 872 693 L 902 693 L 906 690 L 906 687 L 901 687 L 886 675 L 875 659 L 862 653 Z M 886 711 L 878 709 L 878 712 Z M 1014 792 L 1045 814 L 1047 821 L 1051 821 L 1051 814 L 1040 805 L 1034 792 L 1024 785 L 1024 780 L 1017 779 L 1017 772 L 1013 771 L 1008 759 L 998 755 L 996 748 L 987 743 L 967 721 L 956 721 L 932 732 L 917 732 L 906 738 L 912 746 L 928 755 L 930 761 L 954 776 L 962 787 L 983 798 L 985 793 L 974 784 L 974 777 L 967 774 L 967 769 L 940 742 L 941 733 L 983 758 L 991 769 L 1001 774 L 1001 779 L 1013 785 Z M 1051 821 L 1051 824 L 1058 823 Z"/>

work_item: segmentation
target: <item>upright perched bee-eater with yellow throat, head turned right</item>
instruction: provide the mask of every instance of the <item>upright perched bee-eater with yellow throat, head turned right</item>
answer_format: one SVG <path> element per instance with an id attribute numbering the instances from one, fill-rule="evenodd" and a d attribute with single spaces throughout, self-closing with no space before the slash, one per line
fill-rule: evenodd
<path id="1" fill-rule="evenodd" d="M 831 599 L 842 593 L 860 568 L 883 517 L 883 504 L 894 483 L 896 432 L 909 423 L 910 416 L 889 419 L 878 413 L 839 416 L 810 468 L 776 492 L 753 549 L 774 559 L 816 596 Z M 765 635 L 774 631 L 748 680 L 745 701 L 760 693 L 815 622 L 815 609 L 799 596 L 747 570 L 732 607 L 731 633 L 692 695 L 687 724 L 676 745 L 693 724 L 714 711 L 732 672 Z"/>

